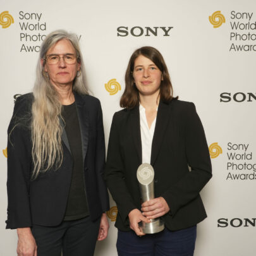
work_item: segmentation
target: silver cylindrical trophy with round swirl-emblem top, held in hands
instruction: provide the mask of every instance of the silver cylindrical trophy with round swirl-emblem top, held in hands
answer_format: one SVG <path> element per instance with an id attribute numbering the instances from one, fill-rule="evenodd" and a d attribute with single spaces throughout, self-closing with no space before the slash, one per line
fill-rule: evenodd
<path id="1" fill-rule="evenodd" d="M 150 164 L 144 163 L 138 166 L 137 179 L 140 185 L 140 195 L 142 202 L 154 199 L 154 169 Z M 145 234 L 154 234 L 164 229 L 164 222 L 162 219 L 151 219 L 151 222 L 139 222 L 138 226 Z"/>

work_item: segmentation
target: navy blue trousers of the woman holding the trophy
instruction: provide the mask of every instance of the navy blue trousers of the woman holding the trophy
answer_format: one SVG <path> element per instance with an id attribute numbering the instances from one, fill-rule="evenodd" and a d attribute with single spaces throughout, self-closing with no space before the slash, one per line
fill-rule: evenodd
<path id="1" fill-rule="evenodd" d="M 119 256 L 193 256 L 197 226 L 179 231 L 163 231 L 137 236 L 134 231 L 118 231 Z"/>

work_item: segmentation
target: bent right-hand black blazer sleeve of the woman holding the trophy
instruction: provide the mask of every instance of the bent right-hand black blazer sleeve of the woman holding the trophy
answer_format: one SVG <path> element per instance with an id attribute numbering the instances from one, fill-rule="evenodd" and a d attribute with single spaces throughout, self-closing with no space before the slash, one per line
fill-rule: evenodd
<path id="1" fill-rule="evenodd" d="M 212 177 L 204 128 L 193 103 L 190 103 L 186 110 L 184 123 L 186 159 L 191 170 L 162 195 L 169 205 L 172 216 L 181 207 L 197 198 L 200 190 Z"/>

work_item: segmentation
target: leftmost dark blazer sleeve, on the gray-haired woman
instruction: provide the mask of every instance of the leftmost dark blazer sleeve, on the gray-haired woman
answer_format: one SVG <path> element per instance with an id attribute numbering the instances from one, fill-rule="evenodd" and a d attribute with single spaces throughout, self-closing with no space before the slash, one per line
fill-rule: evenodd
<path id="1" fill-rule="evenodd" d="M 16 100 L 13 117 L 8 127 L 8 219 L 6 228 L 10 229 L 32 226 L 29 199 L 30 130 L 22 125 L 26 118 L 26 105 L 26 99 L 22 96 Z"/>

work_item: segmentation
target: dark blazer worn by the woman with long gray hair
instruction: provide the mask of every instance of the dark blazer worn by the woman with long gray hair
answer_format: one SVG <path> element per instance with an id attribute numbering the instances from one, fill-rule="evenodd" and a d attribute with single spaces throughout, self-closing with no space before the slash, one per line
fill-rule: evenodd
<path id="1" fill-rule="evenodd" d="M 32 94 L 16 100 L 8 128 L 8 219 L 6 228 L 57 226 L 63 221 L 73 170 L 66 132 L 63 130 L 63 162 L 31 180 L 32 142 L 30 128 Z M 83 171 L 90 218 L 97 219 L 109 209 L 103 180 L 105 142 L 101 103 L 95 97 L 75 93 L 83 150 Z M 17 124 L 18 121 L 18 125 Z"/>

